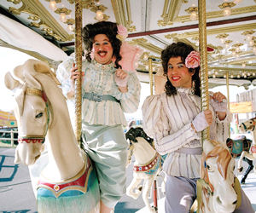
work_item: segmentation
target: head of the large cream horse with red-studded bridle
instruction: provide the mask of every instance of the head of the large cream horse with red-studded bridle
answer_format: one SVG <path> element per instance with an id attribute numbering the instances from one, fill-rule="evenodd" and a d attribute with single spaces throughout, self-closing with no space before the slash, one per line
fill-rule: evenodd
<path id="1" fill-rule="evenodd" d="M 15 151 L 15 164 L 34 164 L 44 147 L 44 137 L 49 126 L 47 97 L 35 76 L 38 72 L 51 72 L 39 60 L 26 60 L 8 72 L 5 85 L 15 92 L 15 118 L 18 124 L 19 145 Z"/>

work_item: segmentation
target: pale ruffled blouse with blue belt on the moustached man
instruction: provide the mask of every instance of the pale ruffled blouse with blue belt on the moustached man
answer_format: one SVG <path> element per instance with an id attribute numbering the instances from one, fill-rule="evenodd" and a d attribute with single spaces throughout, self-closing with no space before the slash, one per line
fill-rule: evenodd
<path id="1" fill-rule="evenodd" d="M 70 57 L 62 62 L 56 71 L 56 76 L 61 82 L 61 89 L 64 95 L 71 89 L 70 70 L 74 60 Z M 137 111 L 140 101 L 141 86 L 136 72 L 128 72 L 128 92 L 121 93 L 114 81 L 116 69 L 113 63 L 102 65 L 92 60 L 91 63 L 84 60 L 82 63 L 84 82 L 82 84 L 82 95 L 96 93 L 97 95 L 112 95 L 120 101 L 90 101 L 83 99 L 82 121 L 89 124 L 127 125 L 124 112 Z"/>

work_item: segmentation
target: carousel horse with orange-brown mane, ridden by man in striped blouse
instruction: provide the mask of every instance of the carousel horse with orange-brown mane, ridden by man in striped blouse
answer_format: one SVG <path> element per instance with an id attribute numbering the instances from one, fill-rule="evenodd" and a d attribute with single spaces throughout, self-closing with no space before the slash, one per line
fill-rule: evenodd
<path id="1" fill-rule="evenodd" d="M 234 169 L 235 159 L 224 144 L 204 141 L 201 179 L 197 181 L 197 212 L 233 212 L 241 204 L 240 184 Z"/>

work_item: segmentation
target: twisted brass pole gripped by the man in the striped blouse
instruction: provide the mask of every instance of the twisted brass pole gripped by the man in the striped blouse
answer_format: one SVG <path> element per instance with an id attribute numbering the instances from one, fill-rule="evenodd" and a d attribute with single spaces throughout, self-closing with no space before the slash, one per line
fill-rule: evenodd
<path id="1" fill-rule="evenodd" d="M 206 0 L 198 0 L 199 51 L 201 55 L 201 110 L 209 109 L 208 67 L 207 67 L 207 15 Z M 202 141 L 210 139 L 210 128 L 202 132 Z"/>

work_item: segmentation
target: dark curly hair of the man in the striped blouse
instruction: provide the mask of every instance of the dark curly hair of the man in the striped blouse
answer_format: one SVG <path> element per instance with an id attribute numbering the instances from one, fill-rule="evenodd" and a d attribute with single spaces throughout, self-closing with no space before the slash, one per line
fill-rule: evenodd
<path id="1" fill-rule="evenodd" d="M 177 89 L 172 86 L 171 81 L 167 77 L 168 72 L 168 61 L 170 58 L 177 58 L 178 56 L 181 57 L 181 60 L 185 64 L 185 59 L 189 55 L 191 51 L 195 50 L 192 46 L 190 46 L 187 43 L 178 42 L 178 43 L 172 43 L 169 46 L 166 47 L 161 53 L 161 60 L 162 60 L 162 66 L 164 68 L 164 73 L 167 78 L 167 82 L 165 85 L 166 95 L 176 95 Z M 195 82 L 195 95 L 201 96 L 201 81 L 199 76 L 199 70 L 200 66 L 196 68 L 189 68 L 189 72 L 195 72 L 195 74 L 192 76 L 192 81 Z"/>

